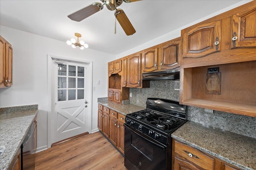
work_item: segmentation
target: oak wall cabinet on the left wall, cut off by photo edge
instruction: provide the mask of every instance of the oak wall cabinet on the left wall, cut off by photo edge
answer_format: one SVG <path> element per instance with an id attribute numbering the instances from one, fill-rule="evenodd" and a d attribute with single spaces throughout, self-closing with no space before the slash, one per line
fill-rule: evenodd
<path id="1" fill-rule="evenodd" d="M 0 88 L 12 86 L 12 45 L 0 36 Z"/>

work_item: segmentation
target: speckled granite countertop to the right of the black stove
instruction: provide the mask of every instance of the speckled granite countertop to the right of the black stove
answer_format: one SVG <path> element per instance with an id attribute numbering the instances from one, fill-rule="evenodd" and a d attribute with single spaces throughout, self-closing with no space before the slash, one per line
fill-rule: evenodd
<path id="1" fill-rule="evenodd" d="M 256 170 L 256 139 L 188 121 L 172 137 L 243 170 Z"/>

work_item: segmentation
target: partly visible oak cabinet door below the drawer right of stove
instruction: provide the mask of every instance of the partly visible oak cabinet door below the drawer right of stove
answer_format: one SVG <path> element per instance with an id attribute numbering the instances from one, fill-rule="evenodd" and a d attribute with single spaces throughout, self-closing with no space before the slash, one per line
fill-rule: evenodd
<path id="1" fill-rule="evenodd" d="M 174 157 L 174 170 L 204 170 L 203 168 L 197 167 L 192 162 L 181 159 L 177 156 Z"/>

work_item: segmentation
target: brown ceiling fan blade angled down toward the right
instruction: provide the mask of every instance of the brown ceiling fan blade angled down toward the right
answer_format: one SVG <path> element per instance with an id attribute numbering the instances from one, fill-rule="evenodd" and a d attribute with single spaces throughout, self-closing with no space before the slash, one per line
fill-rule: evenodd
<path id="1" fill-rule="evenodd" d="M 116 19 L 120 23 L 121 27 L 124 29 L 124 32 L 126 35 L 132 35 L 136 33 L 136 30 L 132 26 L 132 23 L 130 20 L 127 18 L 126 14 L 124 13 L 123 10 L 117 9 L 115 12 Z"/>

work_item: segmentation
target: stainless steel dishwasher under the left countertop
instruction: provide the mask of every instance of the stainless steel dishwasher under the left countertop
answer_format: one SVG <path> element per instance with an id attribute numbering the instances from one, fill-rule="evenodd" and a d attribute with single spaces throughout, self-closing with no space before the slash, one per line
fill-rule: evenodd
<path id="1" fill-rule="evenodd" d="M 35 125 L 30 125 L 28 133 L 21 145 L 21 170 L 35 169 Z"/>

